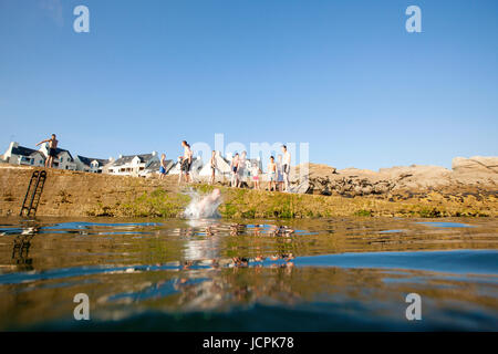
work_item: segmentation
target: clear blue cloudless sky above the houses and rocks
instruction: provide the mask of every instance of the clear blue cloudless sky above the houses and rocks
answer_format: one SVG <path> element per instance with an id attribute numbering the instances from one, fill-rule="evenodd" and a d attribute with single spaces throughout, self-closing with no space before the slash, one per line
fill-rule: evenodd
<path id="1" fill-rule="evenodd" d="M 497 156 L 498 1 L 0 0 L 0 148 L 51 133 L 91 157 L 215 133 L 339 168 Z"/>

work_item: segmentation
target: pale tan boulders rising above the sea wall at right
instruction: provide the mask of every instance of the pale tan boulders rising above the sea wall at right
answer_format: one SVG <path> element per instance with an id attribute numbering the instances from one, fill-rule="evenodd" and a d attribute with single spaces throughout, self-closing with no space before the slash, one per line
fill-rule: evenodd
<path id="1" fill-rule="evenodd" d="M 294 186 L 299 168 L 294 173 Z M 498 157 L 456 157 L 452 170 L 439 166 L 402 166 L 378 171 L 346 168 L 336 170 L 326 165 L 310 165 L 309 187 L 304 192 L 324 196 L 396 196 L 424 191 L 495 195 L 498 191 Z"/>

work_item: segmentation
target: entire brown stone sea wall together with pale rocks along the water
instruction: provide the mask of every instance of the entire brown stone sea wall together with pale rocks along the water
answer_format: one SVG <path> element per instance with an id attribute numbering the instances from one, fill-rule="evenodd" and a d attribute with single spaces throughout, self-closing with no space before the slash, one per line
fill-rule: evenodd
<path id="1" fill-rule="evenodd" d="M 455 158 L 438 166 L 382 168 L 378 171 L 309 165 L 300 194 L 229 188 L 219 184 L 227 218 L 313 217 L 498 217 L 498 157 Z M 0 216 L 17 216 L 33 168 L 0 165 Z M 37 216 L 179 217 L 189 202 L 177 177 L 123 177 L 49 169 Z"/>

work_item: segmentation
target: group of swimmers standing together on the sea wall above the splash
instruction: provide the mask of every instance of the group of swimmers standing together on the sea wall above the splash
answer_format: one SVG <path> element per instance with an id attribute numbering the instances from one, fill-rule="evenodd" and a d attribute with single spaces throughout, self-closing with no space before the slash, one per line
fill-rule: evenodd
<path id="1" fill-rule="evenodd" d="M 191 183 L 190 167 L 194 153 L 190 145 L 186 140 L 181 142 L 181 147 L 184 148 L 184 154 L 178 157 L 178 162 L 180 163 L 178 184 L 180 184 L 183 179 L 185 179 L 186 183 Z M 282 145 L 281 148 L 282 155 L 278 156 L 277 162 L 274 157 L 271 156 L 268 164 L 268 190 L 289 191 L 291 154 L 287 149 L 286 145 Z M 211 153 L 209 166 L 211 170 L 209 184 L 214 185 L 216 180 L 216 171 L 219 170 L 215 150 Z M 231 187 L 240 188 L 245 183 L 249 185 L 248 177 L 250 175 L 252 179 L 252 187 L 255 189 L 261 188 L 260 176 L 262 175 L 262 170 L 258 163 L 248 163 L 247 152 L 242 152 L 240 155 L 239 153 L 235 154 L 230 162 L 230 173 Z M 160 156 L 159 178 L 163 179 L 165 176 L 166 155 L 163 154 Z"/>

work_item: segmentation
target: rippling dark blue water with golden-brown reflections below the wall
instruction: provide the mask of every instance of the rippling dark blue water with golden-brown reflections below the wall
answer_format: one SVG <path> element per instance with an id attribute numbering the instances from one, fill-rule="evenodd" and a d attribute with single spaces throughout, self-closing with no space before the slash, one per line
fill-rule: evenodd
<path id="1" fill-rule="evenodd" d="M 1 331 L 498 331 L 498 220 L 2 218 L 0 298 Z"/>

